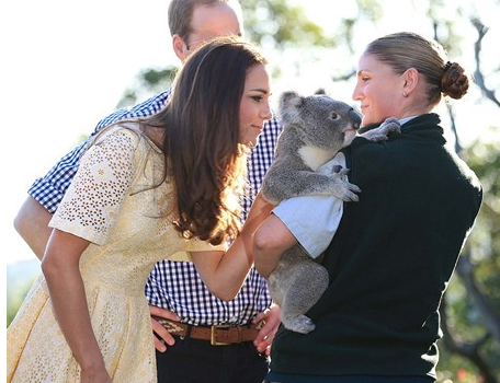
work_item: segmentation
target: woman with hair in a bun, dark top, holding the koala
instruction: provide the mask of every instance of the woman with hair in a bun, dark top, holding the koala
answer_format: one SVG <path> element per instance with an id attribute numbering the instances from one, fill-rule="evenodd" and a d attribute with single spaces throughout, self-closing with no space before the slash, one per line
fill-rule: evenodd
<path id="1" fill-rule="evenodd" d="M 357 137 L 343 150 L 360 201 L 344 204 L 325 252 L 330 283 L 307 313 L 316 328 L 305 335 L 280 328 L 269 382 L 435 381 L 440 302 L 482 194 L 433 109 L 443 96 L 461 98 L 467 89 L 464 69 L 434 40 L 396 33 L 366 47 L 353 92 L 361 131 L 396 117 L 401 132 L 382 142 Z M 303 230 L 314 236 L 321 228 L 308 218 L 315 197 L 307 198 L 289 209 L 294 217 L 304 209 L 304 221 L 312 222 Z M 263 276 L 277 264 L 276 234 L 286 233 L 286 223 L 282 209 L 255 234 Z M 287 235 L 289 244 L 294 233 Z"/>

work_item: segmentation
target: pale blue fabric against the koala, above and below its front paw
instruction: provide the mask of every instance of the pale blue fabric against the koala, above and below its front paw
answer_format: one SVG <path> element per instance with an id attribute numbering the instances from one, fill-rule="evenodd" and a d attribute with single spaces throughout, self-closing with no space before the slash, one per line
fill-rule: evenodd
<path id="1" fill-rule="evenodd" d="M 345 167 L 345 156 L 338 153 L 318 169 L 322 174 L 333 173 L 333 167 Z M 273 213 L 294 234 L 299 245 L 312 258 L 320 256 L 339 228 L 343 201 L 333 196 L 302 196 L 281 201 Z"/>

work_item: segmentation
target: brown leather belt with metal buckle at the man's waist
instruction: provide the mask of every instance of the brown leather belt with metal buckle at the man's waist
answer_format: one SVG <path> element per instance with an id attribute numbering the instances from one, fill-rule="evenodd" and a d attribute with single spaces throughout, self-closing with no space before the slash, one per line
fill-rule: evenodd
<path id="1" fill-rule="evenodd" d="M 192 326 L 185 323 L 154 316 L 170 334 L 180 337 L 208 340 L 212 346 L 225 346 L 253 341 L 263 323 L 247 326 Z"/>

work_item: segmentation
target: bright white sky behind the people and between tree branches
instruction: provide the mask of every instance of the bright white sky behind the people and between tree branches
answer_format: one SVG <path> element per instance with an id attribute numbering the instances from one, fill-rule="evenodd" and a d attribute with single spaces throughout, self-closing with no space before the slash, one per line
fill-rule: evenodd
<path id="1" fill-rule="evenodd" d="M 325 12 L 325 0 L 295 1 L 327 31 L 333 26 L 333 16 L 356 11 L 349 7 L 352 1 L 344 1 L 336 12 Z M 454 0 L 448 1 L 455 4 Z M 419 18 L 409 9 L 418 1 L 386 2 L 394 5 L 397 15 L 376 31 L 366 30 L 357 37 L 359 46 L 375 35 L 398 30 L 432 33 L 419 31 L 423 15 Z M 0 105 L 5 134 L 0 152 L 0 232 L 5 264 L 34 258 L 12 225 L 33 181 L 72 149 L 80 135 L 90 134 L 102 117 L 114 111 L 123 91 L 141 69 L 178 63 L 171 51 L 167 9 L 168 0 L 25 0 L 0 5 Z M 496 53 L 498 66 L 499 7 L 482 16 L 491 26 L 485 45 Z M 475 35 L 469 37 L 474 39 Z M 328 58 L 325 65 L 332 65 L 336 59 Z M 299 90 L 314 92 L 321 85 L 317 73 L 321 73 L 319 65 L 297 84 Z M 350 91 L 342 96 L 350 101 Z M 475 105 L 471 107 L 470 115 L 479 113 Z M 499 120 L 498 108 L 481 113 L 491 121 Z M 482 134 L 480 128 L 467 132 L 470 139 Z"/>

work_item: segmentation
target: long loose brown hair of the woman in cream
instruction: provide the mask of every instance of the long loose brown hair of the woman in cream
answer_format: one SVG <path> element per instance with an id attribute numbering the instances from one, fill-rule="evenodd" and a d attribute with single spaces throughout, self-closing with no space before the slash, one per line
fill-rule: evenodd
<path id="1" fill-rule="evenodd" d="M 239 107 L 248 70 L 265 65 L 250 44 L 213 39 L 179 71 L 167 106 L 141 119 L 164 128 L 163 152 L 174 183 L 175 228 L 185 237 L 226 241 L 239 232 L 246 150 L 239 142 Z"/>

